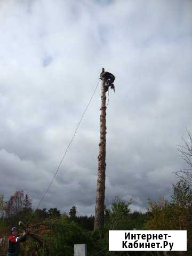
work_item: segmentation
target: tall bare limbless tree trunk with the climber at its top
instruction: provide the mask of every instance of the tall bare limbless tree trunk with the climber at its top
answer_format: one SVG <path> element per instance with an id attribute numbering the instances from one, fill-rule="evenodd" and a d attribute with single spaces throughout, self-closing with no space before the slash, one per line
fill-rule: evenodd
<path id="1" fill-rule="evenodd" d="M 105 179 L 106 179 L 106 79 L 102 78 L 100 143 L 98 156 L 97 196 L 95 203 L 94 230 L 104 226 Z"/>

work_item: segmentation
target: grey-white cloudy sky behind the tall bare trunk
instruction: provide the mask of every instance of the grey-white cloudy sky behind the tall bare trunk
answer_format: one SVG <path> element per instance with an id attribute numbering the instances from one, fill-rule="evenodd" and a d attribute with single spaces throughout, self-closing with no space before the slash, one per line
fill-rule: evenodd
<path id="1" fill-rule="evenodd" d="M 192 131 L 192 1 L 1 0 L 0 193 L 49 186 L 101 68 L 107 108 L 106 203 L 169 198 Z M 93 214 L 101 84 L 41 207 Z"/>

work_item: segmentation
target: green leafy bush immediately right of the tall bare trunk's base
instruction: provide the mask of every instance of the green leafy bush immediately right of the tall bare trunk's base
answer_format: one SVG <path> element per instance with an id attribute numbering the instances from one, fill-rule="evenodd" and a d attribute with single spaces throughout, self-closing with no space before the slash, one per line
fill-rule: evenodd
<path id="1" fill-rule="evenodd" d="M 109 230 L 133 230 L 133 227 L 140 227 L 143 229 L 143 223 L 148 218 L 148 214 L 141 212 L 131 213 L 130 205 L 132 201 L 125 202 L 118 197 L 115 197 L 114 201 L 106 207 L 105 210 L 105 228 L 104 230 L 95 230 L 92 233 L 97 251 L 93 252 L 93 255 L 98 253 L 100 256 L 113 256 L 113 255 L 129 255 L 129 256 L 152 256 L 148 252 L 124 252 L 124 251 L 109 251 L 108 250 L 108 232 Z M 92 254 L 90 254 L 92 255 Z"/>

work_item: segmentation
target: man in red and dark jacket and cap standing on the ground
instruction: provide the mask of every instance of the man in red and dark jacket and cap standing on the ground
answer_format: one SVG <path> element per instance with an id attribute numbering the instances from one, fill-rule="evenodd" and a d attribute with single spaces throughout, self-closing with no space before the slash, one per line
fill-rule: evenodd
<path id="1" fill-rule="evenodd" d="M 24 231 L 22 236 L 18 237 L 18 229 L 13 227 L 8 239 L 8 251 L 6 256 L 18 256 L 20 252 L 20 243 L 26 241 L 27 235 Z"/>

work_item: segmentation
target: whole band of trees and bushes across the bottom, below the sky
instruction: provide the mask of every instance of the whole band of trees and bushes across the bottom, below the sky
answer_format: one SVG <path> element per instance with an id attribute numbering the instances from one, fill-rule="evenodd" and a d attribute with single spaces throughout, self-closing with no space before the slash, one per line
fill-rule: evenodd
<path id="1" fill-rule="evenodd" d="M 77 216 L 76 206 L 68 214 L 57 208 L 33 210 L 32 201 L 24 191 L 16 191 L 4 201 L 0 195 L 0 255 L 6 254 L 7 237 L 11 227 L 21 220 L 27 225 L 28 239 L 23 243 L 20 256 L 74 255 L 74 244 L 87 244 L 88 256 L 191 256 L 192 255 L 192 136 L 183 140 L 179 152 L 189 168 L 177 172 L 179 181 L 172 185 L 170 201 L 149 199 L 148 212 L 131 211 L 131 201 L 114 198 L 105 208 L 104 228 L 93 230 L 94 216 Z M 25 228 L 25 227 L 24 227 Z M 109 230 L 187 230 L 187 251 L 108 251 Z"/>

